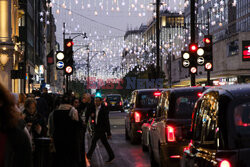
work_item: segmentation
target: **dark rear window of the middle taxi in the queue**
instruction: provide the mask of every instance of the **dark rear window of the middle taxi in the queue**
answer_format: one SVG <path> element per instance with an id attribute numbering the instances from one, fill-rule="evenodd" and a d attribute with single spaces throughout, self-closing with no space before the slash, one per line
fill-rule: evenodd
<path id="1" fill-rule="evenodd" d="M 191 119 L 194 104 L 198 96 L 196 93 L 177 95 L 173 112 L 169 113 L 170 118 Z"/>

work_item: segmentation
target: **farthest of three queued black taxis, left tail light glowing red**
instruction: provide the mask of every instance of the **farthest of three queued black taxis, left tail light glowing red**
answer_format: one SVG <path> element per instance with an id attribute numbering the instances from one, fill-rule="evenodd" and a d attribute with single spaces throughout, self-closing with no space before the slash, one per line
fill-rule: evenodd
<path id="1" fill-rule="evenodd" d="M 149 120 L 156 111 L 161 90 L 140 89 L 132 92 L 129 113 L 125 118 L 125 135 L 132 144 L 141 142 L 143 120 Z"/>

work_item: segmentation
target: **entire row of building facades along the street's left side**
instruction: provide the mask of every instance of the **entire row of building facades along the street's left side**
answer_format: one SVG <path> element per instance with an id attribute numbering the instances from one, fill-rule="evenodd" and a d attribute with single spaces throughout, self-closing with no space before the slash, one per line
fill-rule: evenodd
<path id="1" fill-rule="evenodd" d="M 0 82 L 16 93 L 54 82 L 47 73 L 47 55 L 56 46 L 50 1 L 1 0 L 0 22 Z"/>

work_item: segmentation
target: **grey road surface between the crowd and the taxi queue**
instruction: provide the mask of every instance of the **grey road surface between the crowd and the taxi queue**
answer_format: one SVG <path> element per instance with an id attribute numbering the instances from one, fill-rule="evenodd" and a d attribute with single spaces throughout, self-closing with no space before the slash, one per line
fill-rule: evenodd
<path id="1" fill-rule="evenodd" d="M 112 164 L 105 164 L 109 157 L 99 141 L 91 160 L 92 167 L 150 167 L 149 155 L 142 151 L 141 145 L 131 145 L 129 141 L 125 140 L 125 115 L 126 113 L 118 111 L 110 112 L 112 139 L 109 140 L 109 143 L 114 150 L 115 160 Z"/>

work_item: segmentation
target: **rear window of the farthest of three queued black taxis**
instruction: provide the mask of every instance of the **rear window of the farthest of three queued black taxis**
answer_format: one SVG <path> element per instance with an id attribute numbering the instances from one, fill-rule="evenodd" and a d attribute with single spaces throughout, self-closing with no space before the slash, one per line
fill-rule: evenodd
<path id="1" fill-rule="evenodd" d="M 154 92 L 142 92 L 138 94 L 136 100 L 137 108 L 155 108 L 157 106 L 158 98 L 153 94 Z"/>

